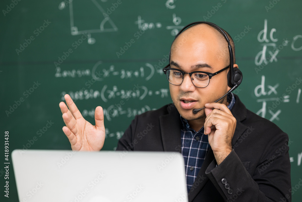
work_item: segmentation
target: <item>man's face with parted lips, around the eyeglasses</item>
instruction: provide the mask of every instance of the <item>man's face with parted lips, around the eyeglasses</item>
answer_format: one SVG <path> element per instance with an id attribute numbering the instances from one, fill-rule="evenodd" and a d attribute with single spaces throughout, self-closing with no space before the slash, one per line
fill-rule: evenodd
<path id="1" fill-rule="evenodd" d="M 219 71 L 229 65 L 225 63 L 223 58 L 219 57 L 219 48 L 217 35 L 210 29 L 203 29 L 202 33 L 184 32 L 178 36 L 172 46 L 170 68 L 180 69 L 188 73 L 192 71 L 211 73 Z M 229 70 L 212 77 L 209 85 L 205 88 L 195 87 L 188 74 L 185 74 L 181 85 L 169 83 L 172 101 L 183 118 L 187 120 L 205 118 L 204 109 L 197 114 L 193 114 L 192 110 L 203 108 L 206 103 L 215 102 L 230 90 L 230 87 L 227 86 L 227 72 Z M 226 104 L 226 97 L 218 102 Z"/>

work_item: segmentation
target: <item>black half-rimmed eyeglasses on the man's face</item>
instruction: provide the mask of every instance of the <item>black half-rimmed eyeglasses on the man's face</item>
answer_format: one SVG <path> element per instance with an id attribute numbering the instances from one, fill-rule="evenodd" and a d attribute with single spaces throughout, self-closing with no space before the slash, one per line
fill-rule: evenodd
<path id="1" fill-rule="evenodd" d="M 169 67 L 170 65 L 167 65 L 166 67 Z M 172 85 L 181 85 L 182 81 L 184 80 L 185 74 L 190 75 L 191 81 L 196 86 L 197 88 L 205 88 L 209 85 L 210 79 L 219 74 L 220 72 L 226 70 L 227 68 L 230 67 L 227 66 L 219 71 L 216 71 L 215 73 L 210 73 L 206 71 L 192 71 L 190 73 L 184 72 L 179 69 L 175 68 L 163 68 L 162 71 L 165 73 L 167 76 L 167 79 L 170 84 Z"/>

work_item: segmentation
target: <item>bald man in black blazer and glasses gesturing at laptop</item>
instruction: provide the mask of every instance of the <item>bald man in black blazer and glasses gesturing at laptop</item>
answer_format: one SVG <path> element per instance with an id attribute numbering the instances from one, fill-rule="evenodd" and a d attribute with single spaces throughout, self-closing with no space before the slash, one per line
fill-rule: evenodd
<path id="1" fill-rule="evenodd" d="M 227 47 L 211 25 L 183 31 L 172 44 L 170 69 L 164 69 L 173 105 L 136 116 L 117 150 L 182 153 L 189 201 L 291 201 L 288 135 L 247 110 L 234 94 L 215 102 L 231 89 Z M 219 73 L 188 74 L 193 71 Z M 59 106 L 72 150 L 99 151 L 105 139 L 102 108 L 95 109 L 93 126 L 69 95 L 65 99 L 69 110 L 64 102 Z"/>

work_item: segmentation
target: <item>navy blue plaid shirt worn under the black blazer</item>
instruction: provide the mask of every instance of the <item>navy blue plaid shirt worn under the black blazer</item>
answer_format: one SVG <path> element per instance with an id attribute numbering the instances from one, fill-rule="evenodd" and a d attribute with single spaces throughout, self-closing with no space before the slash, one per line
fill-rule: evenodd
<path id="1" fill-rule="evenodd" d="M 227 95 L 227 101 L 230 103 L 227 107 L 231 110 L 235 104 L 235 96 L 233 93 Z M 204 134 L 204 127 L 196 132 L 189 126 L 186 119 L 182 118 L 182 116 L 180 116 L 180 119 L 182 120 L 182 156 L 185 159 L 187 189 L 189 193 L 204 162 L 210 144 L 208 136 Z"/>

